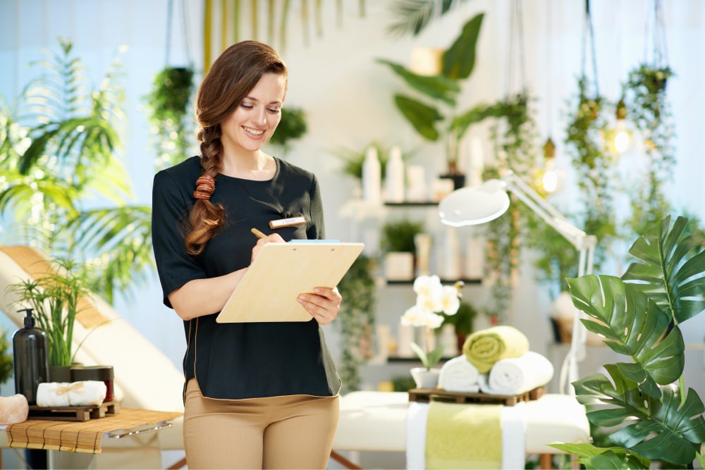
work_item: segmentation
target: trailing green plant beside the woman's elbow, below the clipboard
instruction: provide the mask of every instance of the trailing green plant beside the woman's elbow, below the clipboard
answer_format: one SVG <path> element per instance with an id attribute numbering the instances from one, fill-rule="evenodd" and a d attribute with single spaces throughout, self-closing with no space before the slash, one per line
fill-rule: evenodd
<path id="1" fill-rule="evenodd" d="M 373 258 L 362 254 L 338 283 L 343 304 L 333 325 L 341 333 L 338 374 L 343 394 L 360 390 L 360 366 L 373 355 L 376 285 L 372 272 L 376 265 Z"/>

